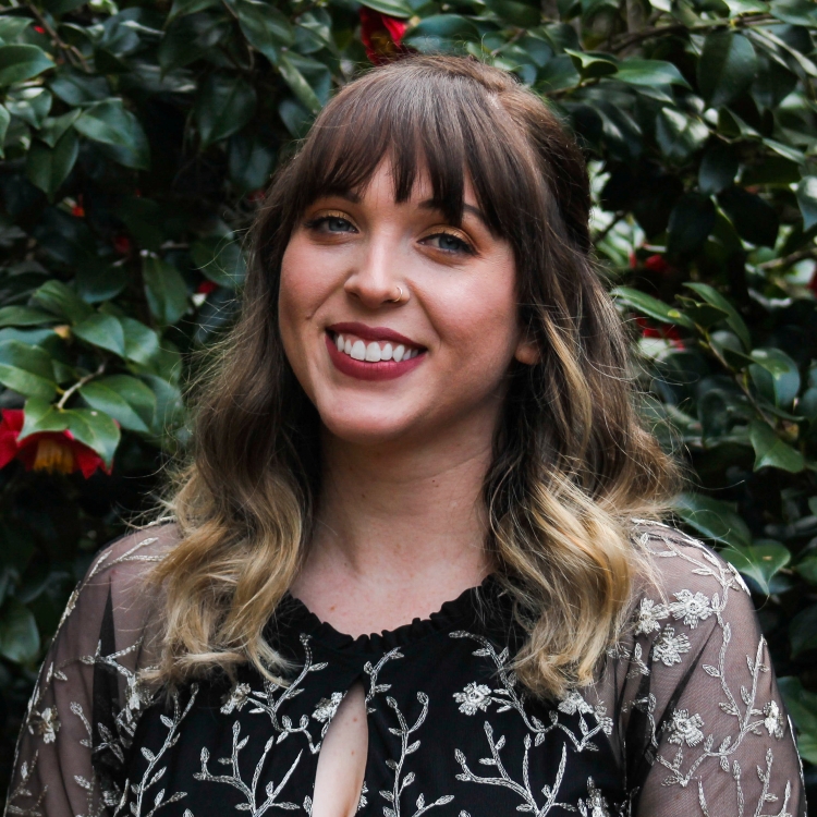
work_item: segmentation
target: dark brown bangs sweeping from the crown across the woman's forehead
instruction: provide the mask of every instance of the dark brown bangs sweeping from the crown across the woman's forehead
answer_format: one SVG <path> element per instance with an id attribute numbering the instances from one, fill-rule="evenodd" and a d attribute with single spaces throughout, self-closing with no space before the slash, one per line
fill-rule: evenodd
<path id="1" fill-rule="evenodd" d="M 525 188 L 539 175 L 523 156 L 529 148 L 490 90 L 467 76 L 402 64 L 371 72 L 327 106 L 293 168 L 293 204 L 302 212 L 321 196 L 363 194 L 387 159 L 395 202 L 406 202 L 427 173 L 432 205 L 460 224 L 467 174 L 489 228 L 509 237 L 520 196 L 531 200 Z"/>

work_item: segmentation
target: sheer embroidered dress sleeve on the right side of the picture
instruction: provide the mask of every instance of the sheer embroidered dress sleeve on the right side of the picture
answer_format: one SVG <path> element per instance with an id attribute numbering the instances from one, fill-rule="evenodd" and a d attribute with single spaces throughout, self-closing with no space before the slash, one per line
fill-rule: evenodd
<path id="1" fill-rule="evenodd" d="M 663 526 L 634 610 L 618 707 L 638 817 L 805 817 L 794 733 L 740 574 Z"/>

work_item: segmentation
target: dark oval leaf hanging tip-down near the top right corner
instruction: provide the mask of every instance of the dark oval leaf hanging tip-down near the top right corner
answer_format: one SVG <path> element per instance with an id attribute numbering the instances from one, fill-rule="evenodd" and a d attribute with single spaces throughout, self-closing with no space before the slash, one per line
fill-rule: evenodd
<path id="1" fill-rule="evenodd" d="M 755 49 L 746 37 L 732 32 L 711 32 L 698 60 L 698 87 L 710 108 L 729 105 L 757 73 Z"/>

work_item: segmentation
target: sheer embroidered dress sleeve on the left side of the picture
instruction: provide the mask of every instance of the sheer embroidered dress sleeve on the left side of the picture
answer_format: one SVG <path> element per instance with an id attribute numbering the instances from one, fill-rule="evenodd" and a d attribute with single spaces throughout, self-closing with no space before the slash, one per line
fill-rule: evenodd
<path id="1" fill-rule="evenodd" d="M 174 540 L 148 527 L 106 548 L 69 599 L 17 744 L 5 814 L 112 814 L 125 785 L 125 754 L 150 698 L 149 594 L 143 580 Z"/>

